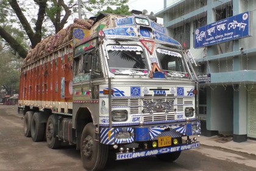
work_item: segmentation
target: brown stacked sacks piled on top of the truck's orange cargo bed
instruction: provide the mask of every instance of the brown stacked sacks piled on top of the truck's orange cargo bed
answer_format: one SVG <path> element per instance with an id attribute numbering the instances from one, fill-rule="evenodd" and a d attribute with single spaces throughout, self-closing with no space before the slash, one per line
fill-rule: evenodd
<path id="1" fill-rule="evenodd" d="M 88 29 L 90 30 L 93 25 L 93 20 L 88 19 L 74 19 L 74 23 L 68 25 L 66 29 L 60 30 L 56 35 L 49 36 L 39 42 L 34 49 L 30 49 L 26 58 L 24 59 L 24 64 L 35 61 L 46 53 L 50 53 L 57 49 L 60 45 L 68 42 L 72 39 L 73 29 Z"/>

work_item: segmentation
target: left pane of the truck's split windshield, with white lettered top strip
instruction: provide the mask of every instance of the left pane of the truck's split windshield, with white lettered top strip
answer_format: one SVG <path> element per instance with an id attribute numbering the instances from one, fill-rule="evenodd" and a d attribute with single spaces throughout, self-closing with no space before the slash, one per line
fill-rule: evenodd
<path id="1" fill-rule="evenodd" d="M 108 45 L 108 67 L 115 75 L 146 75 L 148 64 L 138 45 Z"/>

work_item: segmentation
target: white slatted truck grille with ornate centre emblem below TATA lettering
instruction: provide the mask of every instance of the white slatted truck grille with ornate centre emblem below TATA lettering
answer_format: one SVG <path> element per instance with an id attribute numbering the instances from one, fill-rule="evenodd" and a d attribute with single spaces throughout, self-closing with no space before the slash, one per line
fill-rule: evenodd
<path id="1" fill-rule="evenodd" d="M 174 120 L 177 113 L 184 112 L 184 106 L 192 104 L 191 98 L 176 98 L 174 95 L 144 95 L 142 99 L 112 98 L 113 108 L 129 107 L 130 115 L 142 113 L 144 122 Z"/>

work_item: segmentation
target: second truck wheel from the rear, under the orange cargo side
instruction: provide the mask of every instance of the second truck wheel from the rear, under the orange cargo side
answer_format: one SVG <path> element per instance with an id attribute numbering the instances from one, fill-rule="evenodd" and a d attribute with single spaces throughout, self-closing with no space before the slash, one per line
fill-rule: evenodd
<path id="1" fill-rule="evenodd" d="M 43 141 L 45 124 L 40 122 L 40 113 L 34 113 L 31 120 L 31 137 L 34 142 Z"/>

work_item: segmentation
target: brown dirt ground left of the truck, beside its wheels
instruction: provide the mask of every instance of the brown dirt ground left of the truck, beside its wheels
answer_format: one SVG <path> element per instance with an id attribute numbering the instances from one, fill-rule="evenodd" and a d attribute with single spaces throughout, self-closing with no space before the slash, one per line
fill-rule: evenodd
<path id="1" fill-rule="evenodd" d="M 0 106 L 0 170 L 84 170 L 74 146 L 49 149 L 23 133 L 23 114 L 16 106 Z"/>

